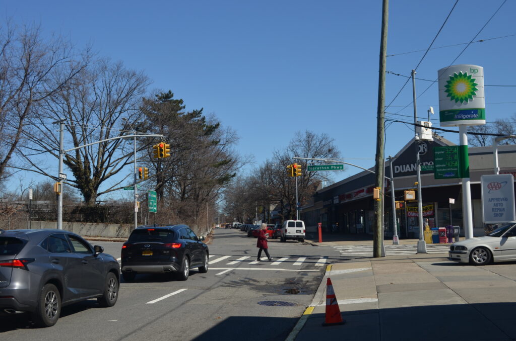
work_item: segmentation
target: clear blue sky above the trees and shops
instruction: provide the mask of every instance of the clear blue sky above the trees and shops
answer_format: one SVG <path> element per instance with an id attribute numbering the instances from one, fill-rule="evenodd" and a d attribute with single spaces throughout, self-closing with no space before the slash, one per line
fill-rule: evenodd
<path id="1" fill-rule="evenodd" d="M 425 50 L 454 1 L 391 0 L 388 54 Z M 470 42 L 503 0 L 461 0 L 433 47 Z M 0 1 L 14 23 L 40 23 L 77 47 L 92 43 L 99 56 L 143 70 L 151 89 L 172 90 L 187 110 L 204 108 L 237 131 L 241 155 L 256 165 L 284 148 L 296 131 L 325 132 L 347 162 L 374 165 L 381 0 L 364 1 Z M 516 34 L 508 1 L 474 40 Z M 416 77 L 436 79 L 466 45 L 430 50 Z M 487 85 L 515 85 L 516 36 L 473 43 L 454 64 L 484 67 Z M 424 52 L 392 56 L 387 70 L 410 75 Z M 509 71 L 507 71 L 509 70 Z M 386 76 L 386 104 L 406 78 Z M 420 95 L 429 85 L 416 82 Z M 486 119 L 516 113 L 514 87 L 486 87 Z M 413 122 L 409 82 L 386 111 Z M 403 107 L 407 106 L 403 109 Z M 417 99 L 418 116 L 433 106 L 437 84 Z M 407 116 L 399 116 L 407 115 Z M 439 126 L 438 115 L 432 117 Z M 445 134 L 458 143 L 458 134 Z M 413 137 L 413 127 L 386 130 L 385 155 Z M 249 169 L 249 168 L 247 168 Z M 359 172 L 348 168 L 341 180 Z M 57 172 L 57 171 L 56 171 Z M 128 169 L 130 172 L 130 169 Z"/>

